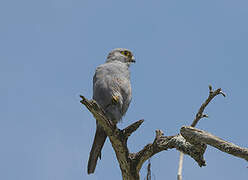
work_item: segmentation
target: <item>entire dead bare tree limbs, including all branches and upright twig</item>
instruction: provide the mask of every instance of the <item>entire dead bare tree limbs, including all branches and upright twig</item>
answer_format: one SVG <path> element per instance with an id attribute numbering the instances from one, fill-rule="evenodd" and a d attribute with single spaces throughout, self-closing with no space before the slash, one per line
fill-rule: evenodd
<path id="1" fill-rule="evenodd" d="M 200 167 L 206 166 L 203 155 L 207 144 L 223 152 L 248 160 L 248 149 L 240 148 L 210 133 L 192 127 L 195 126 L 201 118 L 207 117 L 207 115 L 203 114 L 204 109 L 215 96 L 218 94 L 225 96 L 221 89 L 212 91 L 212 87 L 209 86 L 209 91 L 209 96 L 198 110 L 191 127 L 182 127 L 180 131 L 181 134 L 174 136 L 164 136 L 161 130 L 156 130 L 154 141 L 147 144 L 137 153 L 129 152 L 127 140 L 128 137 L 140 127 L 144 120 L 139 120 L 125 129 L 120 130 L 106 118 L 104 110 L 94 100 L 88 100 L 84 96 L 80 96 L 82 98 L 80 102 L 92 113 L 109 137 L 120 165 L 123 180 L 139 180 L 139 171 L 146 160 L 161 151 L 173 148 L 192 157 Z M 182 161 L 180 161 L 180 164 L 182 164 Z M 180 167 L 182 167 L 182 165 L 180 165 Z M 181 177 L 178 176 L 178 178 Z"/>

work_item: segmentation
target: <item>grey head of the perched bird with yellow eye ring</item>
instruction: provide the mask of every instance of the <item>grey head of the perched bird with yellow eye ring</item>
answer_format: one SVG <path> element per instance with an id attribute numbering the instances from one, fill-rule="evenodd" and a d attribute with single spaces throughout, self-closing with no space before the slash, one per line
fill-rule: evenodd
<path id="1" fill-rule="evenodd" d="M 114 62 L 114 61 L 120 61 L 122 63 L 127 63 L 129 66 L 131 63 L 135 62 L 135 58 L 132 54 L 132 52 L 125 48 L 116 48 L 113 49 L 107 57 L 106 62 Z"/>

